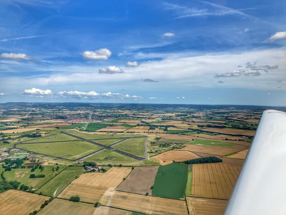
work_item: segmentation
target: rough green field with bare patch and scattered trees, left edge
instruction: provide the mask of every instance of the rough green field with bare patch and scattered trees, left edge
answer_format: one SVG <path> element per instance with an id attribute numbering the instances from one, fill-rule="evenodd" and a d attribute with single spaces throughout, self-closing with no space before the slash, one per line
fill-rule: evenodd
<path id="1" fill-rule="evenodd" d="M 25 169 L 12 169 L 11 171 L 4 172 L 4 177 L 7 181 L 18 181 L 21 182 L 24 185 L 32 186 L 34 189 L 37 189 L 41 187 L 43 184 L 45 184 L 47 181 L 49 181 L 54 175 L 59 173 L 63 170 L 66 166 L 60 165 L 59 171 L 52 171 L 52 168 L 56 167 L 56 165 L 44 165 L 44 170 L 41 172 L 40 169 L 35 169 L 34 172 L 31 172 L 31 168 L 25 168 Z M 0 171 L 4 171 L 4 169 L 1 167 Z M 44 178 L 29 178 L 30 174 L 45 174 Z"/>

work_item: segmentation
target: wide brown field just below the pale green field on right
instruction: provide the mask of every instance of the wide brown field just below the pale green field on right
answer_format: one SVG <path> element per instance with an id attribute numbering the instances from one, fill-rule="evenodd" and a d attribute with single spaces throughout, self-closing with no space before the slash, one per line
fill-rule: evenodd
<path id="1" fill-rule="evenodd" d="M 225 156 L 231 153 L 235 153 L 238 151 L 242 151 L 248 149 L 248 146 L 244 145 L 236 145 L 232 147 L 226 146 L 208 146 L 208 145 L 185 145 L 184 148 L 175 149 L 178 151 L 192 151 L 192 152 L 199 152 L 199 153 L 206 153 L 206 154 L 213 154 L 218 156 Z"/>

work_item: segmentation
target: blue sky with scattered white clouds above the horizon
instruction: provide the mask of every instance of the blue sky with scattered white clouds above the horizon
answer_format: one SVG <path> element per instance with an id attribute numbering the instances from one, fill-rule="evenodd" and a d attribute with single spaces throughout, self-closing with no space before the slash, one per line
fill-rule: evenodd
<path id="1" fill-rule="evenodd" d="M 286 105 L 286 2 L 0 3 L 0 102 Z"/>

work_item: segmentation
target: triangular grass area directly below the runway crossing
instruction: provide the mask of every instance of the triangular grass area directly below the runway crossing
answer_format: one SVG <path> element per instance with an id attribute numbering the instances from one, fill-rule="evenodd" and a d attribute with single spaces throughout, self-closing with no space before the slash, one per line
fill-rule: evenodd
<path id="1" fill-rule="evenodd" d="M 137 161 L 134 158 L 125 156 L 118 152 L 105 149 L 99 153 L 96 153 L 93 156 L 90 156 L 85 159 L 86 161 L 101 161 L 101 162 L 119 162 L 119 161 Z"/>

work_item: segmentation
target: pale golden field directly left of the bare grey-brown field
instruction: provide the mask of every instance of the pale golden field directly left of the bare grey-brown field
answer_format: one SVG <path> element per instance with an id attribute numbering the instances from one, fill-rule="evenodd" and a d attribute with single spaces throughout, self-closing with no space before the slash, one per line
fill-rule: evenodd
<path id="1" fill-rule="evenodd" d="M 105 173 L 85 173 L 71 183 L 114 190 L 130 172 L 131 167 L 112 167 Z"/>

